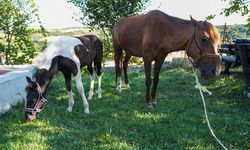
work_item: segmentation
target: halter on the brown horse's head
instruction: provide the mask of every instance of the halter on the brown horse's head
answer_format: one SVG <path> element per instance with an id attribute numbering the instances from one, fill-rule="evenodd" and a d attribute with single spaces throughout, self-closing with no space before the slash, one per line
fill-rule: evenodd
<path id="1" fill-rule="evenodd" d="M 205 27 L 206 27 L 206 30 L 208 31 L 208 28 L 207 28 L 207 25 L 204 23 Z M 186 53 L 188 53 L 188 51 L 190 51 L 190 48 L 191 48 L 191 45 L 194 41 L 194 44 L 195 46 L 199 49 L 199 55 L 193 59 L 191 58 L 190 56 L 188 56 L 188 59 L 189 61 L 191 62 L 191 64 L 193 65 L 193 67 L 197 67 L 197 63 L 201 60 L 202 57 L 206 56 L 206 57 L 220 57 L 219 55 L 216 55 L 216 54 L 211 54 L 211 53 L 203 53 L 202 52 L 202 49 L 199 47 L 199 44 L 198 42 L 196 41 L 195 39 L 195 31 L 196 31 L 196 28 L 194 29 L 193 31 L 193 34 L 192 34 L 192 37 L 191 37 L 191 40 L 187 46 L 187 48 L 185 49 Z M 209 32 L 208 32 L 209 33 Z M 210 35 L 210 33 L 209 33 Z M 210 36 L 211 37 L 211 36 Z"/>

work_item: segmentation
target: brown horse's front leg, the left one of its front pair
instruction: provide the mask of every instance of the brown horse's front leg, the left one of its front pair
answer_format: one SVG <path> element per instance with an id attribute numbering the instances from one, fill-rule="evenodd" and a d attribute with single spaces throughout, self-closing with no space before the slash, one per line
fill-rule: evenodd
<path id="1" fill-rule="evenodd" d="M 144 69 L 145 69 L 145 83 L 146 83 L 146 103 L 148 109 L 152 110 L 153 105 L 152 105 L 152 98 L 150 94 L 150 86 L 151 86 L 151 60 L 148 60 L 146 58 L 143 58 L 144 61 Z"/>

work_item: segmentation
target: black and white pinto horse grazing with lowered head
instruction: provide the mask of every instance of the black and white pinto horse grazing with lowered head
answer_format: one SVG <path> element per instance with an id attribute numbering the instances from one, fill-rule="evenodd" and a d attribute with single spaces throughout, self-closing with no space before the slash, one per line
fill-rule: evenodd
<path id="1" fill-rule="evenodd" d="M 71 112 L 74 98 L 71 87 L 72 75 L 76 77 L 77 90 L 81 95 L 84 112 L 89 113 L 89 104 L 84 94 L 81 79 L 81 67 L 87 66 L 91 75 L 89 99 L 93 96 L 95 72 L 98 76 L 98 98 L 101 93 L 101 63 L 103 46 L 101 40 L 95 35 L 84 35 L 79 37 L 59 36 L 51 40 L 47 49 L 38 56 L 36 60 L 37 70 L 33 74 L 33 80 L 26 77 L 27 101 L 25 108 L 25 119 L 34 120 L 45 102 L 44 97 L 52 78 L 57 72 L 62 72 L 69 97 L 68 111 Z M 94 62 L 94 69 L 93 64 Z"/>

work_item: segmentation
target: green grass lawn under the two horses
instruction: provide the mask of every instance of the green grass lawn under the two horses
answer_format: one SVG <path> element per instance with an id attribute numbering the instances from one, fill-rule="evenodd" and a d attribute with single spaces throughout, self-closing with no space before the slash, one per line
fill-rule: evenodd
<path id="1" fill-rule="evenodd" d="M 90 114 L 83 113 L 75 93 L 73 112 L 68 105 L 64 79 L 58 75 L 47 93 L 48 103 L 36 121 L 24 121 L 24 104 L 0 116 L 0 149 L 221 149 L 211 136 L 191 68 L 163 68 L 157 107 L 145 106 L 144 73 L 130 72 L 131 89 L 115 91 L 114 72 L 103 75 L 103 98 L 97 94 Z M 88 93 L 89 76 L 83 72 Z M 250 100 L 243 95 L 242 75 L 202 81 L 210 123 L 229 149 L 250 149 Z M 75 85 L 75 82 L 74 82 Z"/>

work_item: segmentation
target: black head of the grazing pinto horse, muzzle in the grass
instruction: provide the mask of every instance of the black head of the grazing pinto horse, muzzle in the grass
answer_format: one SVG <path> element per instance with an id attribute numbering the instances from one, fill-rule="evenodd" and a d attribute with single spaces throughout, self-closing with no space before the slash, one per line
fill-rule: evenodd
<path id="1" fill-rule="evenodd" d="M 44 104 L 46 103 L 46 99 L 44 98 L 45 93 L 45 85 L 48 85 L 51 80 L 51 74 L 46 69 L 38 69 L 36 73 L 33 75 L 36 78 L 36 81 L 31 80 L 30 77 L 26 77 L 28 85 L 25 90 L 27 92 L 26 97 L 26 106 L 25 106 L 25 119 L 26 121 L 32 121 L 36 119 L 36 115 L 41 112 Z M 38 84 L 38 79 L 43 79 L 44 81 L 40 81 Z M 46 78 L 48 78 L 46 80 Z"/>

